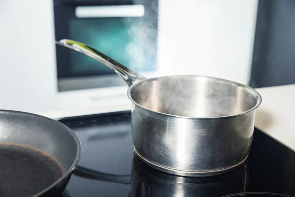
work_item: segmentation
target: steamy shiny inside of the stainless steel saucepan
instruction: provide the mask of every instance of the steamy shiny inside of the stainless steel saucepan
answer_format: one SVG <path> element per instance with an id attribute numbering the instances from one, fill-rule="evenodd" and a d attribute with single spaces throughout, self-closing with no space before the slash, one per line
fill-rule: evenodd
<path id="1" fill-rule="evenodd" d="M 141 106 L 170 115 L 221 117 L 255 107 L 255 92 L 215 78 L 169 76 L 134 86 L 131 98 Z"/>

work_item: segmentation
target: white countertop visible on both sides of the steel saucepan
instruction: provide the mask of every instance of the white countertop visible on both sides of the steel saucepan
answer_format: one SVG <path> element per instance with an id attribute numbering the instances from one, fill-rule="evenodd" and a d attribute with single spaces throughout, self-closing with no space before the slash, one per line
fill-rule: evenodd
<path id="1" fill-rule="evenodd" d="M 256 111 L 255 126 L 295 151 L 295 85 L 260 88 L 262 104 Z M 53 119 L 130 110 L 131 104 L 40 113 Z"/>

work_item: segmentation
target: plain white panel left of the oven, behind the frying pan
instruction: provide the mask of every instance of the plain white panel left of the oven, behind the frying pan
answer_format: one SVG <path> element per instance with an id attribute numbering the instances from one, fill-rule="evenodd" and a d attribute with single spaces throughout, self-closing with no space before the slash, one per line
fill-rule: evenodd
<path id="1" fill-rule="evenodd" d="M 0 109 L 55 109 L 52 0 L 0 0 Z"/>

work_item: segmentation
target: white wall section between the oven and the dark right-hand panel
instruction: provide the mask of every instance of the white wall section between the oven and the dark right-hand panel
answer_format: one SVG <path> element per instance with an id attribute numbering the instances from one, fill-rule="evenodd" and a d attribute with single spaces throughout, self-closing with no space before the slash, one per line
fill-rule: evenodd
<path id="1" fill-rule="evenodd" d="M 161 73 L 248 84 L 257 5 L 258 0 L 160 0 Z"/>

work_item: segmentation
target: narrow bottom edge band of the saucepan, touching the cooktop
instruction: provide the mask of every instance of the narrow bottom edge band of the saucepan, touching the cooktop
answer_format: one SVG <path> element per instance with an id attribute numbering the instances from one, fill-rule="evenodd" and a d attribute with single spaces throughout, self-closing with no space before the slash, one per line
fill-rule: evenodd
<path id="1" fill-rule="evenodd" d="M 224 173 L 235 170 L 241 164 L 243 164 L 246 161 L 246 159 L 248 158 L 248 155 L 247 155 L 245 157 L 245 159 L 242 160 L 240 163 L 232 165 L 232 166 L 227 167 L 227 168 L 219 169 L 219 170 L 183 171 L 183 170 L 172 169 L 172 168 L 168 168 L 168 167 L 165 167 L 165 166 L 162 166 L 162 165 L 154 164 L 154 163 L 148 161 L 147 159 L 145 159 L 143 156 L 141 156 L 138 153 L 138 151 L 136 150 L 135 147 L 134 147 L 134 152 L 145 164 L 149 165 L 150 167 L 153 167 L 153 168 L 155 168 L 155 169 L 157 169 L 159 171 L 166 172 L 166 173 L 169 173 L 169 174 L 174 174 L 174 175 L 178 175 L 178 176 L 190 176 L 190 177 L 206 177 L 206 176 L 216 176 L 216 175 L 224 174 Z"/>

